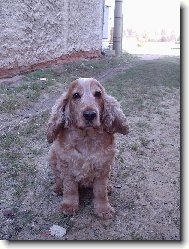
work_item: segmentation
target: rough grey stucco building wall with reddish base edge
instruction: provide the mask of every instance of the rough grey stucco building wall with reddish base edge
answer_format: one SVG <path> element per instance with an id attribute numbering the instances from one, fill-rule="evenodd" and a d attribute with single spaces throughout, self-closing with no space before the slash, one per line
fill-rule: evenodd
<path id="1" fill-rule="evenodd" d="M 1 0 L 0 77 L 99 55 L 103 0 Z M 67 55 L 70 56 L 67 56 Z"/>

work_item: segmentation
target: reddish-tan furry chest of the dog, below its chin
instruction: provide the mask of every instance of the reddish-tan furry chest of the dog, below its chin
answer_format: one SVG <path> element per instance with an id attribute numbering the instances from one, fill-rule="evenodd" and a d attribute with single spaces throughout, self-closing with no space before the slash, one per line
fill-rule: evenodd
<path id="1" fill-rule="evenodd" d="M 90 185 L 95 177 L 110 171 L 114 158 L 113 135 L 106 133 L 73 134 L 64 137 L 64 151 L 70 174 L 83 185 Z"/>

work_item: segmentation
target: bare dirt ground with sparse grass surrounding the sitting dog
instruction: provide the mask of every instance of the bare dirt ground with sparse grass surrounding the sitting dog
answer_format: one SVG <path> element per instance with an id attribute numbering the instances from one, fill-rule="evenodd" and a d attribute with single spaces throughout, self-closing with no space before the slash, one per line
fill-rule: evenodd
<path id="1" fill-rule="evenodd" d="M 180 240 L 179 68 L 179 57 L 124 55 L 1 80 L 0 239 Z M 90 189 L 75 216 L 59 213 L 62 197 L 53 192 L 46 123 L 77 77 L 100 80 L 130 126 L 128 136 L 116 135 L 109 196 L 116 214 L 108 220 L 94 215 Z"/>

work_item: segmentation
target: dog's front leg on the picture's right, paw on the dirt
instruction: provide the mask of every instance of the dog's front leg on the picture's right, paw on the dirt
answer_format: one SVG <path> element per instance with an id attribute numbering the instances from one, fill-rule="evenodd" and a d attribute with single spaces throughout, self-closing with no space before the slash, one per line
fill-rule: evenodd
<path id="1" fill-rule="evenodd" d="M 111 218 L 114 214 L 108 201 L 107 178 L 96 179 L 93 184 L 95 213 L 103 218 Z"/>

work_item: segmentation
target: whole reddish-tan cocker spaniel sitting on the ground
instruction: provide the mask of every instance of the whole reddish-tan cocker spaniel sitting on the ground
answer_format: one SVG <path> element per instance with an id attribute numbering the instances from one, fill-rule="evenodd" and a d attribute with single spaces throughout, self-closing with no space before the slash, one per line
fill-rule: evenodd
<path id="1" fill-rule="evenodd" d="M 116 148 L 114 133 L 128 131 L 120 104 L 93 78 L 73 81 L 56 101 L 47 140 L 53 143 L 49 161 L 56 178 L 55 192 L 63 192 L 64 214 L 78 210 L 78 187 L 86 186 L 93 187 L 95 213 L 112 217 L 107 192 Z"/>

